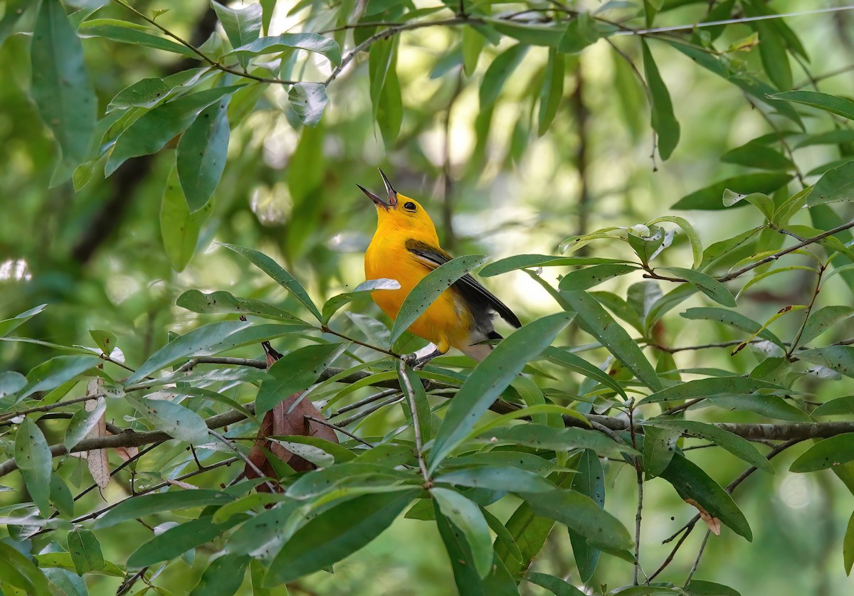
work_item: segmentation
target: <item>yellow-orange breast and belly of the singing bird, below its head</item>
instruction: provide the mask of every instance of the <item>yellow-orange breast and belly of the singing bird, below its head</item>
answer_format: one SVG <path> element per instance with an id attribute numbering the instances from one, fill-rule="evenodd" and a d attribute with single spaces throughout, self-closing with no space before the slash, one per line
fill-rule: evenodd
<path id="1" fill-rule="evenodd" d="M 400 234 L 389 236 L 377 233 L 365 253 L 366 279 L 396 279 L 401 289 L 383 289 L 371 292 L 377 306 L 390 318 L 396 318 L 401 304 L 430 268 L 410 253 L 406 238 Z M 415 335 L 433 342 L 444 353 L 452 346 L 467 347 L 471 334 L 471 315 L 462 298 L 453 289 L 446 289 L 424 313 L 410 325 Z"/>

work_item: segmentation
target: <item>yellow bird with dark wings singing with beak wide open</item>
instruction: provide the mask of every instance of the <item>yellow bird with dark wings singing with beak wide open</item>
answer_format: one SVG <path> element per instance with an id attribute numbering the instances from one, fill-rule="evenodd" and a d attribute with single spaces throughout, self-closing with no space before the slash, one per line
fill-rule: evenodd
<path id="1" fill-rule="evenodd" d="M 357 184 L 377 205 L 377 232 L 365 253 L 365 275 L 367 279 L 396 279 L 401 284 L 400 289 L 371 292 L 383 312 L 396 318 L 412 288 L 452 257 L 439 246 L 436 226 L 424 207 L 398 194 L 382 170 L 380 175 L 388 194 L 387 201 Z M 492 348 L 480 342 L 501 339 L 493 327 L 494 313 L 514 327 L 522 326 L 512 310 L 475 278 L 468 274 L 459 278 L 410 325 L 412 333 L 435 347 L 427 353 L 419 351 L 413 355 L 412 364 L 424 365 L 450 348 L 483 360 Z"/>

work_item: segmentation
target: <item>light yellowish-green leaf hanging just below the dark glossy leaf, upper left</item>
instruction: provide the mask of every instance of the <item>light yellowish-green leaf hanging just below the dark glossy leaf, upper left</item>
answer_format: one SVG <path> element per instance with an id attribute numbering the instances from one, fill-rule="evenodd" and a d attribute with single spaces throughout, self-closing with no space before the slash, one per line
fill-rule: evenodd
<path id="1" fill-rule="evenodd" d="M 196 252 L 199 232 L 210 216 L 212 205 L 208 202 L 200 211 L 190 213 L 190 207 L 181 188 L 178 167 L 173 167 L 163 190 L 160 224 L 163 248 L 172 267 L 177 272 L 184 267 Z"/>

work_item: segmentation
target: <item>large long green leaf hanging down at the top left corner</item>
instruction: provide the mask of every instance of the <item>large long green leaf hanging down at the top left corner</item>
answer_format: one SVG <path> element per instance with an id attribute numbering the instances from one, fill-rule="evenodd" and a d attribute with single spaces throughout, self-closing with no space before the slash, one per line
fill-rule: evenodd
<path id="1" fill-rule="evenodd" d="M 53 131 L 62 161 L 76 167 L 89 154 L 97 98 L 86 72 L 83 46 L 59 0 L 41 3 L 32 29 L 30 55 L 32 101 Z"/>

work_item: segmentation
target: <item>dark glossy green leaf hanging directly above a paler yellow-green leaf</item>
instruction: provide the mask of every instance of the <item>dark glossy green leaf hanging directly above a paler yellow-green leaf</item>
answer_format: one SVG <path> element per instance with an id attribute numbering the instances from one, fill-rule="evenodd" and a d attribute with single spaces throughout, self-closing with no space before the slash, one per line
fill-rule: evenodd
<path id="1" fill-rule="evenodd" d="M 225 155 L 231 135 L 229 99 L 225 97 L 204 108 L 178 141 L 178 179 L 190 213 L 196 213 L 208 204 L 225 170 Z"/>

